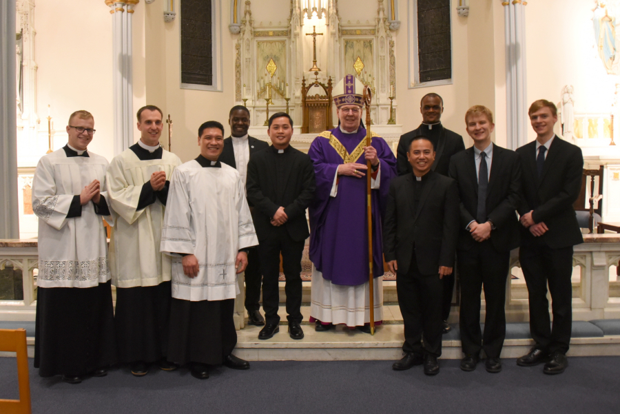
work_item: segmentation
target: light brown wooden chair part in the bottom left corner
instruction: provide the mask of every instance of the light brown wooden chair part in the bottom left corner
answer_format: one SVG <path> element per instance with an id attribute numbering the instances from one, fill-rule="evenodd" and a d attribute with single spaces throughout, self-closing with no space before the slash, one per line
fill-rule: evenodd
<path id="1" fill-rule="evenodd" d="M 28 349 L 25 329 L 0 329 L 0 351 L 17 353 L 17 378 L 19 400 L 0 400 L 0 413 L 31 414 L 30 375 L 28 375 Z"/>

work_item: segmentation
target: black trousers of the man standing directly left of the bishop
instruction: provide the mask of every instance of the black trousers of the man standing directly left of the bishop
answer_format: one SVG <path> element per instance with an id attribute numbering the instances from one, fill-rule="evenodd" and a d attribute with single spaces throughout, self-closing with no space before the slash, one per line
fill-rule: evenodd
<path id="1" fill-rule="evenodd" d="M 278 323 L 278 304 L 280 290 L 280 253 L 282 254 L 282 270 L 286 278 L 287 319 L 289 322 L 301 322 L 302 280 L 301 259 L 304 251 L 304 240 L 296 241 L 289 236 L 285 226 L 271 231 L 265 240 L 258 245 L 260 253 L 260 269 L 262 271 L 262 309 L 265 311 L 265 322 Z"/>

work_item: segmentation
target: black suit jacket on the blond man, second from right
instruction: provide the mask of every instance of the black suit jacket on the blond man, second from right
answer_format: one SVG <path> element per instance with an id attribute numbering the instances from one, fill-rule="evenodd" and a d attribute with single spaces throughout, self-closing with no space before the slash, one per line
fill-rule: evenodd
<path id="1" fill-rule="evenodd" d="M 457 249 L 469 250 L 477 243 L 466 230 L 478 211 L 478 178 L 474 147 L 459 152 L 450 161 L 450 177 L 459 187 L 461 225 Z M 490 242 L 497 251 L 519 247 L 517 209 L 521 203 L 521 160 L 516 152 L 493 144 L 493 159 L 486 190 L 486 211 L 495 229 Z"/>

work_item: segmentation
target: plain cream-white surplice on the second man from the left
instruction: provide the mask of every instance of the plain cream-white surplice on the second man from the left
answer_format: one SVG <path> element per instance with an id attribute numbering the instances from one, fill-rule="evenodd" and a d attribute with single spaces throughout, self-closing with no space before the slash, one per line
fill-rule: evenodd
<path id="1" fill-rule="evenodd" d="M 159 250 L 165 206 L 160 200 L 137 210 L 142 186 L 156 171 L 167 180 L 180 158 L 163 149 L 161 159 L 141 161 L 132 149 L 114 157 L 106 174 L 112 206 L 110 271 L 116 287 L 156 286 L 170 280 L 170 257 Z"/>

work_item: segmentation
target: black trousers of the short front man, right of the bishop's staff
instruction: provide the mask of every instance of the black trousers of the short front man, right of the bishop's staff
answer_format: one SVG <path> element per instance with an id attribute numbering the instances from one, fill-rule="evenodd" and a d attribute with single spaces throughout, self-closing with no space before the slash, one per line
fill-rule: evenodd
<path id="1" fill-rule="evenodd" d="M 442 355 L 442 292 L 439 274 L 422 275 L 415 260 L 407 273 L 396 272 L 398 306 L 404 323 L 404 352 Z"/>

